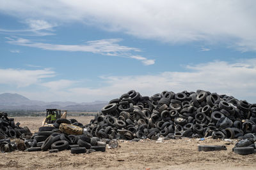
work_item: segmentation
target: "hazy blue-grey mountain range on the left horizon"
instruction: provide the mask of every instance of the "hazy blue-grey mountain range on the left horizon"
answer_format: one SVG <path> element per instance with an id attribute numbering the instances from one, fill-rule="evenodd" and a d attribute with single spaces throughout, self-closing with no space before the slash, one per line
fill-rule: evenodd
<path id="1" fill-rule="evenodd" d="M 4 93 L 0 94 L 0 110 L 12 111 L 12 110 L 36 110 L 45 111 L 47 108 L 57 108 L 68 111 L 100 111 L 108 101 L 94 101 L 91 103 L 76 103 L 76 102 L 44 102 L 44 101 L 32 101 L 27 97 L 20 94 Z"/>

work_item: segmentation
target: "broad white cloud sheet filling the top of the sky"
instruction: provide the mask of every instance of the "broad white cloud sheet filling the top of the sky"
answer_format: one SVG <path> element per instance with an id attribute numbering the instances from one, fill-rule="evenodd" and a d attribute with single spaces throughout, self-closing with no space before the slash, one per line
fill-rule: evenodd
<path id="1" fill-rule="evenodd" d="M 204 43 L 256 50 L 255 1 L 0 1 L 20 18 L 83 22 L 109 31 L 170 43 Z"/>

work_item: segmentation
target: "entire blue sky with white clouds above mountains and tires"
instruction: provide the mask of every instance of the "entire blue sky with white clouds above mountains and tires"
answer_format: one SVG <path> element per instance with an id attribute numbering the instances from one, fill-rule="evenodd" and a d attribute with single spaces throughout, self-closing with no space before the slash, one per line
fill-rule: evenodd
<path id="1" fill-rule="evenodd" d="M 255 5 L 0 0 L 0 93 L 89 102 L 204 89 L 256 103 Z"/>

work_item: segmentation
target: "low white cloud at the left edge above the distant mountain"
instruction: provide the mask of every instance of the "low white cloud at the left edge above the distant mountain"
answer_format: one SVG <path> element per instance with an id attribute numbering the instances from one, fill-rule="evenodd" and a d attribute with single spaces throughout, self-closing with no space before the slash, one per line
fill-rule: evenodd
<path id="1" fill-rule="evenodd" d="M 0 69 L 0 84 L 28 87 L 40 83 L 44 78 L 53 76 L 55 76 L 55 72 L 51 69 Z"/>

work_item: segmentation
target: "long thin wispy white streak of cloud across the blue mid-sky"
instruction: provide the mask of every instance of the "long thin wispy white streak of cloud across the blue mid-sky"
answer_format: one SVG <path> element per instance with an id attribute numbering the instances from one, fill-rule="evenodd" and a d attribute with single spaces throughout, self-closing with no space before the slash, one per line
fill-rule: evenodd
<path id="1" fill-rule="evenodd" d="M 57 45 L 50 43 L 37 43 L 24 38 L 7 38 L 8 43 L 20 46 L 30 46 L 41 48 L 43 50 L 66 51 L 66 52 L 92 52 L 101 55 L 111 55 L 117 57 L 127 57 L 131 59 L 141 60 L 148 66 L 154 64 L 154 60 L 141 57 L 140 55 L 132 55 L 134 52 L 141 52 L 139 48 L 122 46 L 118 42 L 122 39 L 100 39 L 95 41 L 87 41 L 81 45 Z"/>

